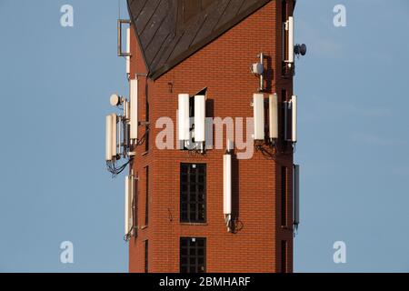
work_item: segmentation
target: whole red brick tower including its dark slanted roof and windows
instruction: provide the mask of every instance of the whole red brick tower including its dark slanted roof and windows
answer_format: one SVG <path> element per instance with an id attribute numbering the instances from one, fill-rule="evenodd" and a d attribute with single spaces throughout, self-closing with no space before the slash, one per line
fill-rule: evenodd
<path id="1" fill-rule="evenodd" d="M 293 271 L 293 142 L 285 136 L 290 122 L 284 108 L 293 95 L 287 28 L 294 4 L 294 0 L 128 0 L 129 76 L 138 80 L 130 272 Z M 251 71 L 261 53 L 262 80 Z M 245 118 L 254 117 L 254 93 L 263 89 L 264 94 L 265 142 L 252 141 L 250 159 L 237 157 L 244 149 L 232 151 L 229 231 L 224 220 L 228 125 L 223 148 L 205 153 L 176 149 L 178 96 L 195 96 L 203 88 L 199 95 L 206 98 L 206 117 L 231 117 L 234 126 L 237 117 L 244 118 L 243 125 Z M 278 138 L 271 142 L 268 104 L 274 94 Z M 173 140 L 166 140 L 174 149 L 159 149 L 156 143 L 164 132 L 158 123 L 164 116 L 175 123 Z M 241 133 L 235 129 L 234 135 Z M 206 143 L 211 144 L 207 137 Z"/>

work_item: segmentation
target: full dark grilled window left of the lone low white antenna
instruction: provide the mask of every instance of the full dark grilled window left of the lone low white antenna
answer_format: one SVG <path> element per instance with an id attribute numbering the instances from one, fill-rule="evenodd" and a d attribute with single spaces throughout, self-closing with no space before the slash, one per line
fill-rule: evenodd
<path id="1" fill-rule="evenodd" d="M 185 223 L 205 223 L 205 205 L 206 165 L 181 164 L 180 221 Z"/>

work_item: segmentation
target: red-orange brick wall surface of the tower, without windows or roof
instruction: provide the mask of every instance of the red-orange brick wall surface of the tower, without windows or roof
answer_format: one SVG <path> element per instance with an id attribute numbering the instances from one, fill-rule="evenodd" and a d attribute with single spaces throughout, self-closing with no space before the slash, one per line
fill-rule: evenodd
<path id="1" fill-rule="evenodd" d="M 155 121 L 163 116 L 176 120 L 177 95 L 195 94 L 208 87 L 207 103 L 213 116 L 253 117 L 253 94 L 258 78 L 250 73 L 257 55 L 266 55 L 268 94 L 277 92 L 282 102 L 283 89 L 293 93 L 292 78 L 282 72 L 281 1 L 272 1 L 210 45 L 177 65 L 155 82 L 139 76 L 139 121 L 145 121 L 146 96 L 150 106 L 150 148 L 135 149 L 133 164 L 139 176 L 137 216 L 138 236 L 129 244 L 130 272 L 145 271 L 144 241 L 149 240 L 149 272 L 179 272 L 179 239 L 206 237 L 207 272 L 280 272 L 281 241 L 286 240 L 287 272 L 293 270 L 293 154 L 287 152 L 275 160 L 254 152 L 249 160 L 235 160 L 233 169 L 234 210 L 242 229 L 228 233 L 223 215 L 224 150 L 210 150 L 206 156 L 191 156 L 179 150 L 158 150 L 155 136 L 161 128 Z M 289 4 L 292 11 L 292 5 Z M 135 35 L 132 35 L 131 77 L 146 73 L 145 63 Z M 208 116 L 210 113 L 208 112 Z M 280 118 L 281 120 L 282 118 Z M 175 137 L 176 137 L 175 124 Z M 139 129 L 144 135 L 145 127 Z M 280 142 L 282 145 L 283 142 Z M 224 141 L 225 147 L 225 141 Z M 291 147 L 291 146 L 290 146 Z M 207 221 L 203 225 L 180 223 L 180 164 L 207 164 Z M 149 226 L 145 224 L 145 166 L 149 166 Z M 281 226 L 281 166 L 289 169 L 287 180 L 288 228 Z"/>

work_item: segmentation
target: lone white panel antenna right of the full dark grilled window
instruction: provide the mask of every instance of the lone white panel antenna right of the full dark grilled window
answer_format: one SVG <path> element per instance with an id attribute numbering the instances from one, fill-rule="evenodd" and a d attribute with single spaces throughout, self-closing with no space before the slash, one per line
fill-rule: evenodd
<path id="1" fill-rule="evenodd" d="M 223 197 L 224 197 L 224 219 L 228 231 L 232 218 L 232 156 L 223 156 Z"/>

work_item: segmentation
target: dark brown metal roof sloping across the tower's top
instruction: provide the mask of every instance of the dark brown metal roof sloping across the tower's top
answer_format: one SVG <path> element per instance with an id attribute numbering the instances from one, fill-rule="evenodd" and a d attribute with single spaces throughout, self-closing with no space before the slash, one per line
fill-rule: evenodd
<path id="1" fill-rule="evenodd" d="M 165 74 L 271 0 L 127 0 L 149 76 Z"/>

